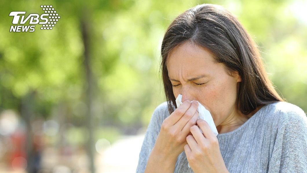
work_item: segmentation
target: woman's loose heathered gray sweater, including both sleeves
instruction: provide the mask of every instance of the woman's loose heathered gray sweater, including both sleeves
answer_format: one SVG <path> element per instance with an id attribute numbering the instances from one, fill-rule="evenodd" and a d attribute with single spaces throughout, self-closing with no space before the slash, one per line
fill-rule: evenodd
<path id="1" fill-rule="evenodd" d="M 166 102 L 153 112 L 139 154 L 137 173 L 145 171 L 161 124 L 168 116 Z M 216 137 L 230 173 L 307 172 L 307 118 L 300 107 L 291 103 L 267 104 L 239 128 Z M 193 172 L 188 167 L 185 151 L 178 156 L 174 172 Z"/>

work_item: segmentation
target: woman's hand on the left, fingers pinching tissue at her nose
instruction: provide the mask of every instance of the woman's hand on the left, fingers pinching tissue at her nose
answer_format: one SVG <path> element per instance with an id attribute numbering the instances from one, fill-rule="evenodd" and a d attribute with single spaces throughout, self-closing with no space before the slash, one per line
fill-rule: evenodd
<path id="1" fill-rule="evenodd" d="M 177 159 L 187 144 L 186 137 L 198 118 L 198 102 L 186 100 L 162 123 L 153 151 L 165 159 Z M 191 134 L 191 133 L 190 133 Z"/>

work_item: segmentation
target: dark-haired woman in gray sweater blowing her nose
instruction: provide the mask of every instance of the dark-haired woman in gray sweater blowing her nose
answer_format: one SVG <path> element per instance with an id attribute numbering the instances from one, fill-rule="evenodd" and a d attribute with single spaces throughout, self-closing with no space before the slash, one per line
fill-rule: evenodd
<path id="1" fill-rule="evenodd" d="M 306 115 L 275 91 L 233 14 L 188 9 L 167 29 L 161 55 L 167 102 L 153 112 L 136 172 L 307 172 Z M 210 111 L 217 136 L 192 100 Z"/>

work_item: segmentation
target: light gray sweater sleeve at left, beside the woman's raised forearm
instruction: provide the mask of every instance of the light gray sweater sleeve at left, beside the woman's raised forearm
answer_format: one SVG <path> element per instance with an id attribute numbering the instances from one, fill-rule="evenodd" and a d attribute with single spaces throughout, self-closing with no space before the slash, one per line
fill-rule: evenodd
<path id="1" fill-rule="evenodd" d="M 161 124 L 165 115 L 165 103 L 160 104 L 154 111 L 148 124 L 144 141 L 142 143 L 141 152 L 139 154 L 138 166 L 136 173 L 143 173 L 145 171 L 149 155 L 156 142 L 157 136 L 160 132 Z"/>

